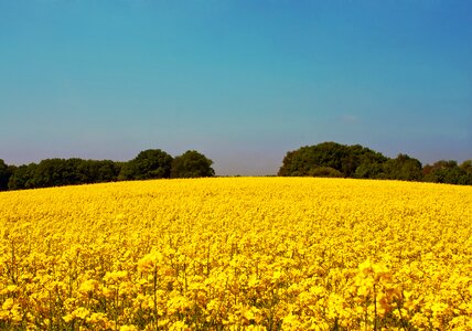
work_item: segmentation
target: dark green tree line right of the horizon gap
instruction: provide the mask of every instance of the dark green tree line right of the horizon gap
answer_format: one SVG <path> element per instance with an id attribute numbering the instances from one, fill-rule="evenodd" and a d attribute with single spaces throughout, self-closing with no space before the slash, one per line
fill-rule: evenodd
<path id="1" fill-rule="evenodd" d="M 322 142 L 287 152 L 278 175 L 389 179 L 472 185 L 472 160 L 422 167 L 407 154 L 387 158 L 361 145 Z"/>

